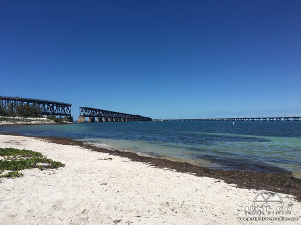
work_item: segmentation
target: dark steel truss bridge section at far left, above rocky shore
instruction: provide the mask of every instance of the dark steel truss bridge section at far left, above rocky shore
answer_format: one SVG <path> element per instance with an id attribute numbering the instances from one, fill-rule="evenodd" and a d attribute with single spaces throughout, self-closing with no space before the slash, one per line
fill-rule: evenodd
<path id="1" fill-rule="evenodd" d="M 0 106 L 5 110 L 9 110 L 13 103 L 14 108 L 19 105 L 30 105 L 35 106 L 40 111 L 41 115 L 63 115 L 71 116 L 71 105 L 69 103 L 63 103 L 58 101 L 41 100 L 34 98 L 24 98 L 24 97 L 7 97 L 0 96 Z"/>

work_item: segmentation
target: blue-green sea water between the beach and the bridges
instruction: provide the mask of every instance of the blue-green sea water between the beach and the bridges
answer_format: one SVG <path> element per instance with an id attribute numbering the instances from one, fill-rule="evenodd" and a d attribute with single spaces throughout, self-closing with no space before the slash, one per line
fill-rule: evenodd
<path id="1" fill-rule="evenodd" d="M 0 127 L 0 132 L 64 136 L 108 149 L 210 168 L 301 178 L 301 121 L 135 121 Z"/>

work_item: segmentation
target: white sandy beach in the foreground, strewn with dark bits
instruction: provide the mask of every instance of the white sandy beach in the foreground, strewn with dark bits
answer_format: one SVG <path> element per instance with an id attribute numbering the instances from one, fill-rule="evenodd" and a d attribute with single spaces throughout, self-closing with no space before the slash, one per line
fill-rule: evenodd
<path id="1" fill-rule="evenodd" d="M 0 147 L 40 151 L 66 164 L 1 178 L 0 224 L 301 222 L 301 202 L 291 195 L 279 193 L 284 205 L 292 204 L 291 214 L 284 217 L 299 217 L 299 221 L 238 221 L 237 217 L 246 217 L 243 210 L 260 191 L 33 137 L 0 135 Z"/>

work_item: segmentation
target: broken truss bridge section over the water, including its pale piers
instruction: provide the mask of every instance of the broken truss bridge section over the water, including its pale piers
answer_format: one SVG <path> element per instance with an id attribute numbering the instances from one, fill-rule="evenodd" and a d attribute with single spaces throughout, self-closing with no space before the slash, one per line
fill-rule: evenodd
<path id="1" fill-rule="evenodd" d="M 116 111 L 108 111 L 98 108 L 79 107 L 79 122 L 84 122 L 85 117 L 89 117 L 89 122 L 96 121 L 152 121 L 150 117 L 144 117 L 141 115 L 132 115 Z"/>

